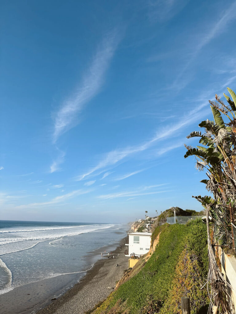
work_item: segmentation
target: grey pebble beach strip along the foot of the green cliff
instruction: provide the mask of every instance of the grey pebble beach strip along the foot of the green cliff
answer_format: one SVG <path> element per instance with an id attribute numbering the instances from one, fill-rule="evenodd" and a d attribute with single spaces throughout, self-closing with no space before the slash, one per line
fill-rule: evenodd
<path id="1" fill-rule="evenodd" d="M 118 244 L 124 243 L 124 240 Z M 81 279 L 78 284 L 68 290 L 57 300 L 51 301 L 37 314 L 83 314 L 92 309 L 99 301 L 104 300 L 115 288 L 116 282 L 121 279 L 124 270 L 128 268 L 128 257 L 125 256 L 124 245 L 113 253 L 115 259 L 104 257 L 98 260 L 93 268 Z M 120 256 L 118 256 L 118 254 Z M 119 266 L 116 266 L 116 265 Z"/>

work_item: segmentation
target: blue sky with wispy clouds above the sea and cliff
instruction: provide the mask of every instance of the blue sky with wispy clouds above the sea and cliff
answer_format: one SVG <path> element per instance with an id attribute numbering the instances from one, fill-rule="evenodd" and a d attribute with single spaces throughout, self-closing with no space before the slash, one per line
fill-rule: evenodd
<path id="1" fill-rule="evenodd" d="M 201 210 L 185 160 L 236 89 L 235 1 L 2 1 L 0 219 Z"/>

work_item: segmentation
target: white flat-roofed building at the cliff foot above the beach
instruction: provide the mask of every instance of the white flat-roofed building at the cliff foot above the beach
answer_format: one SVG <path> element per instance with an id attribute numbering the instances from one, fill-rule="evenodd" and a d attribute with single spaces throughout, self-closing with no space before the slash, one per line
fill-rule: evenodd
<path id="1" fill-rule="evenodd" d="M 133 232 L 129 233 L 129 246 L 128 254 L 134 253 L 135 255 L 146 254 L 150 250 L 151 233 L 150 232 Z"/>

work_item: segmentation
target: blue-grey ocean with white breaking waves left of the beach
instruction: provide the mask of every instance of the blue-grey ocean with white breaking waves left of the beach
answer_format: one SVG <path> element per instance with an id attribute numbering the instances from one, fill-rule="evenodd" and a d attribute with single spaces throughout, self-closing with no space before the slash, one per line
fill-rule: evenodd
<path id="1" fill-rule="evenodd" d="M 0 296 L 59 276 L 64 276 L 61 291 L 67 289 L 101 258 L 104 248 L 114 250 L 127 229 L 118 224 L 0 220 Z"/>

